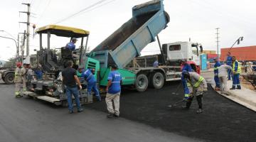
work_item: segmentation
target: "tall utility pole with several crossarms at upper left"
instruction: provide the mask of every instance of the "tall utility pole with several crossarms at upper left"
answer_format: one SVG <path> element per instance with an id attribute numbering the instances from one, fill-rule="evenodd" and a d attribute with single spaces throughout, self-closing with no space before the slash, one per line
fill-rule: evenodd
<path id="1" fill-rule="evenodd" d="M 29 35 L 30 35 L 30 30 L 29 30 L 29 26 L 30 26 L 30 14 L 31 14 L 31 4 L 25 4 L 22 3 L 26 6 L 28 6 L 28 11 L 20 11 L 20 13 L 26 13 L 27 14 L 27 21 L 26 22 L 19 22 L 19 23 L 26 23 L 27 24 L 27 33 L 26 33 L 26 56 L 29 55 Z"/>

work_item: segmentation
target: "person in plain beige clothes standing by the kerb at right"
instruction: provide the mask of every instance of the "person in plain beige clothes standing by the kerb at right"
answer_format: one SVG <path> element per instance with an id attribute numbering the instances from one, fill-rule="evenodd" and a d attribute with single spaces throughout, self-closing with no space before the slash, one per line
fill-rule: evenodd
<path id="1" fill-rule="evenodd" d="M 232 67 L 229 65 L 220 65 L 218 67 L 218 77 L 220 80 L 220 92 L 223 94 L 227 94 L 228 86 L 227 86 L 227 75 L 228 70 L 231 70 L 233 72 Z"/>

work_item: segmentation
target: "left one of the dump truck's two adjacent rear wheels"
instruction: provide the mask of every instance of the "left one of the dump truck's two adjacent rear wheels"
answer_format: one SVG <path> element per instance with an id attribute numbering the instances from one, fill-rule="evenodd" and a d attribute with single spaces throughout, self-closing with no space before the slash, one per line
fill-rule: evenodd
<path id="1" fill-rule="evenodd" d="M 149 80 L 144 74 L 140 74 L 136 78 L 135 87 L 138 92 L 144 92 L 149 85 Z"/>

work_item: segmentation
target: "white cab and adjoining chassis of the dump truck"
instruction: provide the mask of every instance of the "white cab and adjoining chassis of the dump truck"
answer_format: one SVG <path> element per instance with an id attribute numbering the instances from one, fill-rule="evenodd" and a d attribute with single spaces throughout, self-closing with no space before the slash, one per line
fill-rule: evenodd
<path id="1" fill-rule="evenodd" d="M 187 60 L 193 71 L 200 74 L 200 55 L 203 53 L 201 43 L 188 41 L 164 43 L 161 45 L 161 50 L 161 54 L 145 55 L 135 58 L 130 62 L 129 67 L 153 67 L 154 62 L 158 60 L 160 67 L 168 65 L 181 69 L 181 60 Z"/>

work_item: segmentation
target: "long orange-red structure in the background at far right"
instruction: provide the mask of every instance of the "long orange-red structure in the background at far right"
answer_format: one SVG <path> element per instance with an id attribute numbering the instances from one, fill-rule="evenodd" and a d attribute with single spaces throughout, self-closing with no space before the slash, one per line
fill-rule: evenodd
<path id="1" fill-rule="evenodd" d="M 225 60 L 229 49 L 230 48 L 220 49 L 221 61 Z M 256 60 L 256 45 L 239 47 L 239 48 L 231 48 L 230 53 L 231 53 L 231 56 L 235 56 L 237 60 Z"/>

